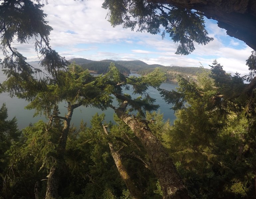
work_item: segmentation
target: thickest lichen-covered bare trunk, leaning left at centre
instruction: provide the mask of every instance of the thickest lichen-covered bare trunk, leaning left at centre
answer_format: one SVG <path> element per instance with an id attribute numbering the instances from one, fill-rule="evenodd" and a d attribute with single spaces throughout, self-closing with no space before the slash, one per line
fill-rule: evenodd
<path id="1" fill-rule="evenodd" d="M 161 142 L 151 132 L 145 121 L 131 117 L 126 113 L 126 104 L 127 101 L 121 107 L 113 108 L 118 117 L 130 127 L 145 148 L 150 158 L 151 169 L 160 182 L 163 198 L 189 198 L 187 189 Z"/>

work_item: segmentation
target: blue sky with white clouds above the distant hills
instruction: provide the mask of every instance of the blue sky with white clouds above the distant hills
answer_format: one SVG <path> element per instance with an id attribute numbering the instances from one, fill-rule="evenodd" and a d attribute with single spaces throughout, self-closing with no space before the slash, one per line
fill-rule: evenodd
<path id="1" fill-rule="evenodd" d="M 252 49 L 243 41 L 228 36 L 216 21 L 205 19 L 206 30 L 213 41 L 207 45 L 195 44 L 196 49 L 190 55 L 176 55 L 177 45 L 168 37 L 162 40 L 160 34 L 112 27 L 106 19 L 108 11 L 102 8 L 103 1 L 48 1 L 43 10 L 47 14 L 46 21 L 53 28 L 50 34 L 52 48 L 67 60 L 141 60 L 164 66 L 203 65 L 210 68 L 208 65 L 216 59 L 228 73 L 248 74 L 245 63 Z M 38 60 L 33 39 L 28 44 L 13 45 L 27 61 Z"/>

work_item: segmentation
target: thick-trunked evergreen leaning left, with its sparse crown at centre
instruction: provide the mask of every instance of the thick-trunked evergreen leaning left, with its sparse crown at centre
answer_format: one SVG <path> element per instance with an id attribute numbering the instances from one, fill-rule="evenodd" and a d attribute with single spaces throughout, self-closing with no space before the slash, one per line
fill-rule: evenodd
<path id="1" fill-rule="evenodd" d="M 165 198 L 189 198 L 187 190 L 172 160 L 168 158 L 164 147 L 151 132 L 147 120 L 143 120 L 145 116 L 144 111 L 156 110 L 156 108 L 158 108 L 157 105 L 153 104 L 154 99 L 146 93 L 146 90 L 148 86 L 154 88 L 159 87 L 165 80 L 164 73 L 161 72 L 159 68 L 156 68 L 147 76 L 125 78 L 118 72 L 117 68 L 112 66 L 110 72 L 104 77 L 108 81 L 112 81 L 112 85 L 115 85 L 112 89 L 112 94 L 120 104 L 118 108 L 113 105 L 110 105 L 110 107 L 112 107 L 117 116 L 129 126 L 145 148 L 150 160 L 150 167 L 159 179 L 163 196 Z M 132 99 L 131 96 L 124 94 L 122 87 L 128 89 L 129 86 L 132 86 L 133 94 L 143 95 L 144 98 L 138 97 Z M 128 108 L 128 106 L 130 106 L 130 108 Z M 130 111 L 134 110 L 138 111 L 138 118 L 128 114 Z"/>

